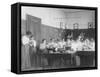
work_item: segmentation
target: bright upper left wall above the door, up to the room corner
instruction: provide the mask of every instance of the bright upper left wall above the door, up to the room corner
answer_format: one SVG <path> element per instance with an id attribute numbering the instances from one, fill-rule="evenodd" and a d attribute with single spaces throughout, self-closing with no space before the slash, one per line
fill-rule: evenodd
<path id="1" fill-rule="evenodd" d="M 22 19 L 26 19 L 26 14 L 41 18 L 42 24 L 53 27 L 59 27 L 59 20 L 56 18 L 64 17 L 62 10 L 56 8 L 22 7 Z"/>

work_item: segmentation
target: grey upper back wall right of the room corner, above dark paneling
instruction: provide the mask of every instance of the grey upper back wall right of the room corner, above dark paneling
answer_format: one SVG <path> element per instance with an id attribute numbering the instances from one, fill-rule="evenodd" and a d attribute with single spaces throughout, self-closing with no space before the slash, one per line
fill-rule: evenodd
<path id="1" fill-rule="evenodd" d="M 70 12 L 67 13 L 66 21 L 67 28 L 73 29 L 73 24 L 78 23 L 80 29 L 88 28 L 88 22 L 93 22 L 95 25 L 95 12 L 94 11 L 82 11 L 82 12 Z"/>

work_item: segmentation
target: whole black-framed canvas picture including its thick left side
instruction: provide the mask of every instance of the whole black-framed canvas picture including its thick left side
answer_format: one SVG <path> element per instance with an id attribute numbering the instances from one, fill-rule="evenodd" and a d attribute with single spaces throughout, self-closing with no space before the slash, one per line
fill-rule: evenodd
<path id="1" fill-rule="evenodd" d="M 11 5 L 11 72 L 90 69 L 97 69 L 97 7 Z"/>

